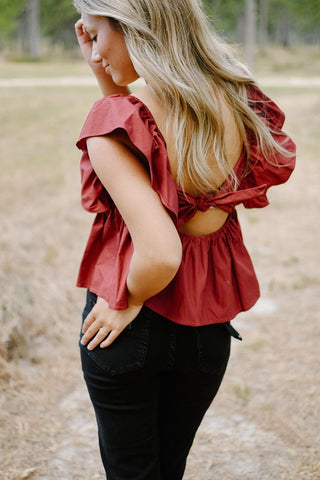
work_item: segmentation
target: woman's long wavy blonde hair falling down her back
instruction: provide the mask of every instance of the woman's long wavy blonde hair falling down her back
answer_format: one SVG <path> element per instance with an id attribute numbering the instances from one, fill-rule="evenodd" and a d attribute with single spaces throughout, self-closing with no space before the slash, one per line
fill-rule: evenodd
<path id="1" fill-rule="evenodd" d="M 182 187 L 188 178 L 199 192 L 218 190 L 212 156 L 223 178 L 237 186 L 225 151 L 221 97 L 234 114 L 248 157 L 247 128 L 267 159 L 274 159 L 275 151 L 287 154 L 248 105 L 246 86 L 254 79 L 209 27 L 197 0 L 74 0 L 74 5 L 120 25 L 137 73 L 168 112 Z"/>

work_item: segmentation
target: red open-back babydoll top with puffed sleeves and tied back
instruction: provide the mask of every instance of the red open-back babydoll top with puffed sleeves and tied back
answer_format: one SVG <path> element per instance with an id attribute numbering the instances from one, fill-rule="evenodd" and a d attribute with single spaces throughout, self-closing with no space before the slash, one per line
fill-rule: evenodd
<path id="1" fill-rule="evenodd" d="M 248 87 L 249 105 L 272 131 L 277 142 L 294 152 L 294 143 L 281 131 L 283 112 L 256 86 Z M 174 279 L 145 305 L 173 322 L 200 326 L 230 321 L 248 310 L 259 298 L 259 285 L 244 246 L 235 207 L 268 205 L 267 189 L 285 182 L 293 168 L 294 156 L 277 153 L 268 162 L 248 131 L 249 165 L 243 152 L 234 172 L 239 179 L 236 191 L 225 182 L 218 193 L 194 197 L 184 193 L 170 173 L 166 144 L 146 105 L 132 95 L 111 95 L 98 100 L 82 128 L 77 146 L 82 150 L 82 206 L 96 214 L 80 266 L 77 286 L 103 297 L 114 310 L 125 309 L 126 279 L 133 244 L 116 205 L 94 172 L 86 147 L 89 137 L 122 132 L 141 153 L 150 174 L 152 188 L 159 195 L 176 227 L 195 213 L 221 208 L 229 213 L 226 223 L 209 235 L 179 232 L 182 261 Z M 140 157 L 140 155 L 139 155 Z"/>

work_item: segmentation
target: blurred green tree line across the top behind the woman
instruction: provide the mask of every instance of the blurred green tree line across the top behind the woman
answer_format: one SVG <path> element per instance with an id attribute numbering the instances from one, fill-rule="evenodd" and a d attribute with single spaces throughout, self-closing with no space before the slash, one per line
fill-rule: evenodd
<path id="1" fill-rule="evenodd" d="M 319 0 L 204 0 L 216 29 L 250 49 L 265 54 L 269 44 L 319 44 Z M 9 58 L 51 58 L 75 47 L 78 18 L 71 0 L 2 0 L 0 50 Z"/>

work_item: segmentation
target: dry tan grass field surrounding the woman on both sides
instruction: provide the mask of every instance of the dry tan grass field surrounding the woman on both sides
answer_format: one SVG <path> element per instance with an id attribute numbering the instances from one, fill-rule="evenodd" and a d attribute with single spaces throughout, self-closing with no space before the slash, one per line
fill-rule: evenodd
<path id="1" fill-rule="evenodd" d="M 281 61 L 282 59 L 282 61 Z M 270 52 L 258 78 L 320 76 L 319 49 Z M 82 63 L 1 63 L 1 78 L 89 75 Z M 262 299 L 201 427 L 186 480 L 316 480 L 319 446 L 320 88 L 269 88 L 298 145 L 288 184 L 240 209 Z M 97 87 L 0 87 L 0 476 L 103 478 L 75 288 L 92 218 L 74 144 Z"/>

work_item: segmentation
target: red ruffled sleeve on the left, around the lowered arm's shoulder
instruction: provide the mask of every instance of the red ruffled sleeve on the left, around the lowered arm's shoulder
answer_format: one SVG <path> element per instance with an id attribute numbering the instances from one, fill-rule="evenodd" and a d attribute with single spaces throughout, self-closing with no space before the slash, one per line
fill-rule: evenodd
<path id="1" fill-rule="evenodd" d="M 178 214 L 175 183 L 170 176 L 165 142 L 147 107 L 131 95 L 111 95 L 98 100 L 92 107 L 81 130 L 78 148 L 81 159 L 82 206 L 100 213 L 108 211 L 112 200 L 97 178 L 88 156 L 89 137 L 122 131 L 146 160 L 151 186 L 160 196 L 173 220 Z"/>

